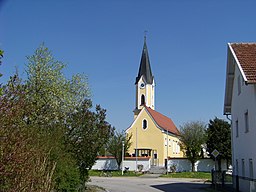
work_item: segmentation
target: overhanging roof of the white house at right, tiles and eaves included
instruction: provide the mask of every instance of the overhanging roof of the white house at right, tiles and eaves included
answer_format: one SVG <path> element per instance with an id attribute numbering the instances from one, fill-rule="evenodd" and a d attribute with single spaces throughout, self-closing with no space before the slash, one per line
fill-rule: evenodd
<path id="1" fill-rule="evenodd" d="M 229 43 L 227 56 L 224 115 L 231 114 L 236 66 L 246 85 L 256 83 L 256 43 Z"/>

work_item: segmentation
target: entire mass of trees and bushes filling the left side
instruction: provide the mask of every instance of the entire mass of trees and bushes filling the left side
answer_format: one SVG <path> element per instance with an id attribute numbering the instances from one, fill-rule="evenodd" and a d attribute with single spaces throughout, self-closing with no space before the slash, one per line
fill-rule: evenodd
<path id="1" fill-rule="evenodd" d="M 0 95 L 0 188 L 77 191 L 111 134 L 106 110 L 89 110 L 87 78 L 67 79 L 44 45 L 27 58 L 27 79 Z"/>

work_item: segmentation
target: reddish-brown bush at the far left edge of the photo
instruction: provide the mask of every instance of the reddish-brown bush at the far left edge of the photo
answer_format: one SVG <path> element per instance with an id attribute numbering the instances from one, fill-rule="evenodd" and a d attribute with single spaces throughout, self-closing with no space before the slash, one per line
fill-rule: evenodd
<path id="1" fill-rule="evenodd" d="M 36 127 L 25 117 L 31 106 L 17 75 L 0 97 L 0 187 L 4 191 L 49 191 L 52 169 L 39 144 Z"/>

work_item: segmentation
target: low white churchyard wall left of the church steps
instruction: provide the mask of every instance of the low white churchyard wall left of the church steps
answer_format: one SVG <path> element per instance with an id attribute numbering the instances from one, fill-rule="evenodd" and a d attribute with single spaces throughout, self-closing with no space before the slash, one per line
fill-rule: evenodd
<path id="1" fill-rule="evenodd" d="M 135 171 L 136 165 L 142 165 L 142 171 L 148 171 L 151 165 L 150 162 L 148 157 L 138 157 L 137 160 L 135 157 L 126 157 L 124 167 L 129 168 L 129 171 Z M 118 165 L 114 157 L 98 157 L 92 170 L 118 170 Z"/>

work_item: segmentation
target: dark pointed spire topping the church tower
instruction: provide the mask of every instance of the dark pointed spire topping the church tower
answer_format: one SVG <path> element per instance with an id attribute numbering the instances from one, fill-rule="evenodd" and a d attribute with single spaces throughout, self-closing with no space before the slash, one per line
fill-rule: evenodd
<path id="1" fill-rule="evenodd" d="M 147 84 L 153 83 L 153 75 L 151 72 L 149 56 L 148 56 L 148 48 L 146 44 L 146 35 L 144 35 L 144 45 L 143 45 L 143 50 L 141 55 L 140 68 L 139 68 L 138 76 L 136 77 L 135 84 L 138 83 L 142 75 L 144 76 Z"/>

